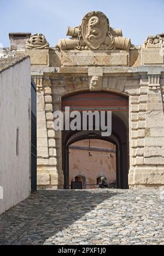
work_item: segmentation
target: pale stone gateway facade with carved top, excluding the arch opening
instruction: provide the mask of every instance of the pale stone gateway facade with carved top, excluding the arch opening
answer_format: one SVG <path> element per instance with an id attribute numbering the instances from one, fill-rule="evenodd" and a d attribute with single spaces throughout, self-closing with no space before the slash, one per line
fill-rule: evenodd
<path id="1" fill-rule="evenodd" d="M 28 47 L 29 39 L 24 53 L 37 85 L 38 185 L 63 188 L 62 138 L 52 114 L 61 110 L 62 97 L 106 91 L 129 99 L 129 187 L 164 186 L 164 35 L 134 46 L 101 12 L 86 14 L 67 35 L 54 48 L 45 37 L 40 47 L 39 40 Z"/>

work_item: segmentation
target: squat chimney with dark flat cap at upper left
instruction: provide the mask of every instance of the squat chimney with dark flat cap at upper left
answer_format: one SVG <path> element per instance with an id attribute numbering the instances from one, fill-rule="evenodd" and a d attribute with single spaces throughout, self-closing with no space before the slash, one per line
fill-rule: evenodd
<path id="1" fill-rule="evenodd" d="M 26 47 L 26 41 L 31 33 L 9 33 L 11 51 Z"/>

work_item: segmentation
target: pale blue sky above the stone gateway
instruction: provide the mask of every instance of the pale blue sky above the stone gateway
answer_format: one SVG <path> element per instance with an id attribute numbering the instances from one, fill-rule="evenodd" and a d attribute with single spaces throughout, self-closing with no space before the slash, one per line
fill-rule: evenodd
<path id="1" fill-rule="evenodd" d="M 110 26 L 121 28 L 133 44 L 164 32 L 163 0 L 0 0 L 0 43 L 9 46 L 9 32 L 42 33 L 50 46 L 66 37 L 91 10 L 100 10 Z"/>

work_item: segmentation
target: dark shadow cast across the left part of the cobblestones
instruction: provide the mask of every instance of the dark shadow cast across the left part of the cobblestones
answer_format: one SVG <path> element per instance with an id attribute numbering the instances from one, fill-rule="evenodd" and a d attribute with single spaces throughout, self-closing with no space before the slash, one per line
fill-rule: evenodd
<path id="1" fill-rule="evenodd" d="M 115 194 L 111 190 L 38 191 L 0 216 L 0 244 L 43 244 Z"/>

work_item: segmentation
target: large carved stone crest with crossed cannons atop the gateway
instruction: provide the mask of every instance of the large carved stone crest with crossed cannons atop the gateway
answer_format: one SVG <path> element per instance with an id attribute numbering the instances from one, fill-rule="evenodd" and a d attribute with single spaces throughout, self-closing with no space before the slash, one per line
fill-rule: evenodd
<path id="1" fill-rule="evenodd" d="M 122 37 L 120 29 L 110 27 L 107 16 L 102 12 L 87 13 L 80 26 L 68 27 L 67 35 L 72 37 L 60 40 L 56 49 L 130 50 L 131 47 L 130 38 Z"/>

